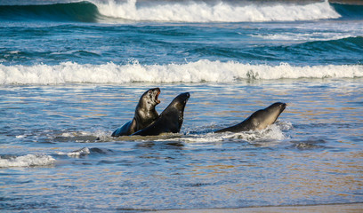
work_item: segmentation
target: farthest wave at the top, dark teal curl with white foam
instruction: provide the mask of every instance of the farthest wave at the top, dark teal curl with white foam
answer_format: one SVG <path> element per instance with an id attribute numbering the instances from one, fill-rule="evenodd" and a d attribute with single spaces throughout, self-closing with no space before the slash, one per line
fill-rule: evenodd
<path id="1" fill-rule="evenodd" d="M 336 5 L 335 5 L 336 7 Z M 90 0 L 62 4 L 0 5 L 0 20 L 81 22 L 181 21 L 245 22 L 337 19 L 341 14 L 327 1 L 311 4 L 252 1 Z M 351 8 L 338 6 L 349 13 Z M 347 12 L 348 10 L 348 12 Z"/>

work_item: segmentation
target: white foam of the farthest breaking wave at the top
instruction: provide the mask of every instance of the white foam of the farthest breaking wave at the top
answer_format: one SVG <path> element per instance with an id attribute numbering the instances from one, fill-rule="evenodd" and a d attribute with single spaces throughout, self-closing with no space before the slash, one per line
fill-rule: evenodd
<path id="1" fill-rule="evenodd" d="M 93 1 L 107 17 L 125 20 L 183 22 L 294 21 L 337 19 L 327 2 L 312 4 L 258 4 L 246 1 Z"/>

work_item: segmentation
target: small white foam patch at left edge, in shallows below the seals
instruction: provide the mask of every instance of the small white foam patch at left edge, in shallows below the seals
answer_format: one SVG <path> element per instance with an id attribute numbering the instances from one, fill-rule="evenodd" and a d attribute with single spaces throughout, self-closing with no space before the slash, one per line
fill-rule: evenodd
<path id="1" fill-rule="evenodd" d="M 49 166 L 54 162 L 55 159 L 49 155 L 27 154 L 24 156 L 0 158 L 0 168 Z"/>

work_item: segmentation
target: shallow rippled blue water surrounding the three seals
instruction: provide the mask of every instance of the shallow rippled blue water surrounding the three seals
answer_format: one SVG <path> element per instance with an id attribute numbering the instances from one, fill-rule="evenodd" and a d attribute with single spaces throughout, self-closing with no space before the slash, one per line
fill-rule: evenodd
<path id="1" fill-rule="evenodd" d="M 191 93 L 181 134 L 110 138 L 133 117 L 136 98 L 155 86 L 2 86 L 6 143 L 0 145 L 0 163 L 13 166 L 0 170 L 1 208 L 114 211 L 363 201 L 362 80 L 160 84 L 159 113 L 180 92 Z M 288 106 L 268 130 L 210 133 L 275 101 Z"/>

